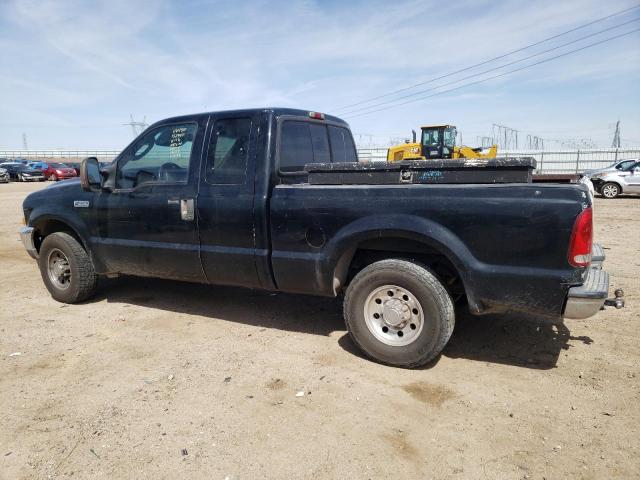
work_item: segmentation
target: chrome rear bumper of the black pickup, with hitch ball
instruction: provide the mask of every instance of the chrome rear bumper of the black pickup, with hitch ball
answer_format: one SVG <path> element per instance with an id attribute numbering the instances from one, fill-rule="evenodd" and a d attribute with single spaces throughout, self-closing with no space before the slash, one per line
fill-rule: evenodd
<path id="1" fill-rule="evenodd" d="M 624 292 L 616 290 L 615 298 L 609 296 L 609 274 L 602 269 L 605 255 L 598 244 L 593 246 L 592 263 L 587 270 L 584 283 L 571 287 L 567 294 L 563 318 L 589 318 L 598 313 L 605 305 L 616 308 L 624 307 Z"/>

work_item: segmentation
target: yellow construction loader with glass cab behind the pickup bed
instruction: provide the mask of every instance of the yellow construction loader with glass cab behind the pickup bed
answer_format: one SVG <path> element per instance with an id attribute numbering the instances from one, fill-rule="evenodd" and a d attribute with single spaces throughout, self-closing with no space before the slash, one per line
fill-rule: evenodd
<path id="1" fill-rule="evenodd" d="M 413 132 L 413 142 L 396 145 L 387 152 L 388 162 L 402 160 L 440 160 L 443 158 L 496 158 L 498 146 L 492 145 L 485 149 L 456 145 L 457 130 L 455 125 L 430 125 L 422 127 L 420 142 L 416 141 Z M 487 150 L 484 152 L 484 150 Z"/>

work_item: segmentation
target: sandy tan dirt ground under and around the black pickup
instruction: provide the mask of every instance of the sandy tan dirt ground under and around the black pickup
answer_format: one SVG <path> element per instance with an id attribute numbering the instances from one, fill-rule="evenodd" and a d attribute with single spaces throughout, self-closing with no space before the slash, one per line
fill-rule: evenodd
<path id="1" fill-rule="evenodd" d="M 624 310 L 461 312 L 411 371 L 362 358 L 333 299 L 123 278 L 53 301 L 17 235 L 43 186 L 0 185 L 2 479 L 640 478 L 640 197 L 596 200 Z"/>

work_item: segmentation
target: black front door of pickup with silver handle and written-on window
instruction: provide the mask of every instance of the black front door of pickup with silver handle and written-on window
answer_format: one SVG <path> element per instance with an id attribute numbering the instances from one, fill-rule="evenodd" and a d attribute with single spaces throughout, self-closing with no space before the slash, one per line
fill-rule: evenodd
<path id="1" fill-rule="evenodd" d="M 154 127 L 118 157 L 96 239 L 108 271 L 206 281 L 195 212 L 207 122 Z"/>

